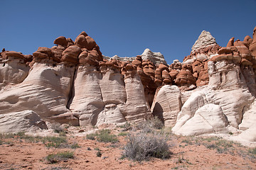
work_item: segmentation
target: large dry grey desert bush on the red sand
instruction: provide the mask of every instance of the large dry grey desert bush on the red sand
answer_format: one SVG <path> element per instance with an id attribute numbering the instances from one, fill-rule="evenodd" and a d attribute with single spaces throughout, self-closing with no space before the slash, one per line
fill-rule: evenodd
<path id="1" fill-rule="evenodd" d="M 123 157 L 141 162 L 149 160 L 150 157 L 166 159 L 171 154 L 166 138 L 159 134 L 139 133 L 128 135 L 127 138 Z"/>

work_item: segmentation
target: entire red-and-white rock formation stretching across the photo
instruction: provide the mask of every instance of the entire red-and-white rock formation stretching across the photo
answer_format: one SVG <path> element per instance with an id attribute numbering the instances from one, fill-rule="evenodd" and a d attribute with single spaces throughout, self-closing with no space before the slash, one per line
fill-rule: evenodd
<path id="1" fill-rule="evenodd" d="M 160 52 L 105 57 L 84 31 L 33 55 L 0 53 L 0 132 L 49 123 L 136 123 L 152 115 L 177 135 L 237 134 L 256 142 L 256 28 L 220 47 L 205 30 L 183 62 Z M 3 127 L 3 128 L 2 128 Z M 250 137 L 247 137 L 250 135 Z"/>

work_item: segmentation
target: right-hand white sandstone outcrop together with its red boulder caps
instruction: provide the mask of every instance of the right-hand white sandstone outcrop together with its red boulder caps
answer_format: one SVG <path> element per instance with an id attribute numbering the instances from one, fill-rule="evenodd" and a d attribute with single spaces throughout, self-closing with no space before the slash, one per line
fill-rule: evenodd
<path id="1" fill-rule="evenodd" d="M 255 34 L 255 33 L 254 33 Z M 252 40 L 231 38 L 208 61 L 208 86 L 196 91 L 183 104 L 172 129 L 178 135 L 228 133 L 234 128 L 246 130 L 238 139 L 251 135 L 255 123 L 255 56 Z M 254 133 L 254 134 L 252 134 Z"/>

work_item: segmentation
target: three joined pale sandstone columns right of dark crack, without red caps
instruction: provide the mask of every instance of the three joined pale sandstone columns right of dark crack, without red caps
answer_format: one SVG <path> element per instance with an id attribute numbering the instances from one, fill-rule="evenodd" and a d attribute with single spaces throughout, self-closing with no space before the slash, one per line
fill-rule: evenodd
<path id="1" fill-rule="evenodd" d="M 89 64 L 78 67 L 70 111 L 86 126 L 141 121 L 150 114 L 137 74 L 124 78 L 113 69 L 100 72 Z"/>

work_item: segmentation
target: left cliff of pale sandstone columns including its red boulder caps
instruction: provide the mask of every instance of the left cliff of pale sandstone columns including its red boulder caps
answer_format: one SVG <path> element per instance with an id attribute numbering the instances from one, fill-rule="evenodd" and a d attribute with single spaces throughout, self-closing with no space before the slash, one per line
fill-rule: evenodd
<path id="1" fill-rule="evenodd" d="M 85 32 L 75 42 L 61 36 L 54 43 L 38 47 L 33 56 L 1 52 L 1 115 L 31 110 L 43 120 L 72 125 L 137 122 L 151 116 L 149 102 L 156 89 L 152 62 L 142 64 L 141 56 L 132 63 L 103 60 L 100 47 Z M 146 101 L 144 88 L 151 101 Z"/>

